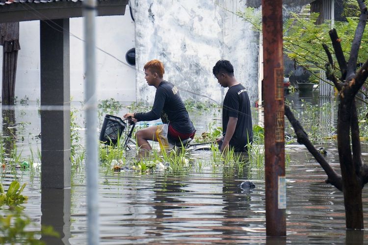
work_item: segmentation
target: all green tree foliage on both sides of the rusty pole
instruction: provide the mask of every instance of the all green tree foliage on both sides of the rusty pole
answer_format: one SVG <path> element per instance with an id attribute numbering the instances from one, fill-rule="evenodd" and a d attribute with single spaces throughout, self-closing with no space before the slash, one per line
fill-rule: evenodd
<path id="1" fill-rule="evenodd" d="M 323 24 L 316 25 L 315 23 L 319 13 L 309 13 L 310 5 L 305 6 L 305 10 L 302 13 L 289 13 L 290 17 L 284 19 L 284 52 L 295 62 L 295 65 L 303 66 L 315 77 L 319 77 L 319 72 L 325 70 L 324 65 L 328 62 L 322 44 L 332 47 L 329 36 L 329 30 L 332 27 L 334 27 L 340 35 L 339 39 L 345 57 L 349 56 L 355 29 L 359 22 L 359 18 L 356 16 L 359 16 L 360 11 L 356 0 L 347 0 L 344 6 L 346 21 L 335 21 L 334 25 L 332 25 L 331 21 L 325 21 Z M 244 11 L 238 11 L 236 14 L 244 21 L 252 24 L 254 30 L 262 31 L 262 16 L 260 10 L 246 8 Z M 357 61 L 358 64 L 365 62 L 368 58 L 368 32 L 363 34 L 360 49 Z M 333 52 L 333 50 L 331 51 Z M 333 55 L 333 57 L 335 57 L 335 55 Z M 334 62 L 336 62 L 336 60 L 334 60 Z M 334 67 L 334 69 L 335 74 L 340 76 L 341 73 L 337 70 L 338 67 Z"/>

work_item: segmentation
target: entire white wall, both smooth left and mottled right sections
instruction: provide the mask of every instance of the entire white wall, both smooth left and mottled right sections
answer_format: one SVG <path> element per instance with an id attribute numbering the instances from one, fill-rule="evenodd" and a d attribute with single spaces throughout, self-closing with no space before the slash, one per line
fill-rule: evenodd
<path id="1" fill-rule="evenodd" d="M 134 1 L 131 1 L 134 2 Z M 184 99 L 221 103 L 226 89 L 213 77 L 219 59 L 232 62 L 235 75 L 252 102 L 258 99 L 258 33 L 231 12 L 247 0 L 135 0 L 134 18 L 96 20 L 98 98 L 152 102 L 155 89 L 147 86 L 143 66 L 151 59 L 165 64 L 165 78 L 174 82 Z M 83 19 L 70 19 L 71 97 L 84 99 Z M 78 38 L 76 38 L 77 36 Z M 40 98 L 39 22 L 20 23 L 21 50 L 15 95 L 18 100 Z M 136 47 L 137 64 L 127 65 L 126 52 Z M 0 48 L 1 49 L 1 48 Z M 0 53 L 0 57 L 2 54 Z M 112 57 L 114 56 L 114 57 Z M 1 57 L 2 58 L 2 57 Z M 137 71 L 137 72 L 136 72 Z"/>

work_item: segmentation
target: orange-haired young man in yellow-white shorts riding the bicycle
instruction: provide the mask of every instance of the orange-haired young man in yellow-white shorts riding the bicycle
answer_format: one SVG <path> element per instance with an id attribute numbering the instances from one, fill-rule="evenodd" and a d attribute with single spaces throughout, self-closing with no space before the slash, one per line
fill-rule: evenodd
<path id="1" fill-rule="evenodd" d="M 193 139 L 195 134 L 193 123 L 190 121 L 177 87 L 163 79 L 165 70 L 162 62 L 151 60 L 144 65 L 143 70 L 148 85 L 156 88 L 152 110 L 146 113 L 128 112 L 124 118 L 132 118 L 137 122 L 153 121 L 166 114 L 167 120 L 161 117 L 164 124 L 138 130 L 135 134 L 138 146 L 151 150 L 148 140 L 153 140 L 159 143 L 161 149 L 168 149 L 176 143 L 189 138 Z"/>

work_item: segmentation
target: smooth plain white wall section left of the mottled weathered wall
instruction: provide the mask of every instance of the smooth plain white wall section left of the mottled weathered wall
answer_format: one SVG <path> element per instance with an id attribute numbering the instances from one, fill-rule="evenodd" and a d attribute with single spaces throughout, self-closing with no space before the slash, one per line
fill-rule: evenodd
<path id="1" fill-rule="evenodd" d="M 84 99 L 83 19 L 70 19 L 70 89 L 75 101 Z M 134 48 L 134 23 L 127 6 L 124 16 L 97 17 L 97 89 L 98 98 L 135 101 L 135 67 L 125 60 Z M 78 38 L 76 38 L 78 37 Z M 40 28 L 39 21 L 20 23 L 20 44 L 15 96 L 18 101 L 40 98 Z M 1 49 L 1 48 L 0 48 Z M 112 56 L 114 57 L 112 57 Z M 2 59 L 2 52 L 0 53 Z M 0 67 L 1 68 L 1 67 Z M 1 88 L 0 88 L 1 89 Z"/>

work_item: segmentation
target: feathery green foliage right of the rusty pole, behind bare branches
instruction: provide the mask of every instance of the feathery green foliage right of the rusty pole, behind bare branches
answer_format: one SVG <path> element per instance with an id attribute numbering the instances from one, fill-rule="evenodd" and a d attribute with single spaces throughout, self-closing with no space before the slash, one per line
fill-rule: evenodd
<path id="1" fill-rule="evenodd" d="M 324 64 L 328 62 L 327 55 L 322 44 L 332 47 L 329 30 L 332 25 L 330 21 L 315 25 L 319 13 L 311 13 L 309 18 L 292 14 L 291 18 L 284 23 L 284 51 L 288 57 L 297 65 L 305 67 L 318 77 L 320 70 L 325 70 Z M 348 17 L 346 22 L 335 22 L 334 27 L 339 33 L 342 51 L 345 57 L 349 56 L 352 40 L 359 19 Z M 368 33 L 365 32 L 362 38 L 359 57 L 357 63 L 363 63 L 368 58 Z M 335 57 L 333 55 L 333 57 Z M 337 60 L 334 60 L 337 64 Z M 337 67 L 335 74 L 340 77 L 341 73 Z"/>

